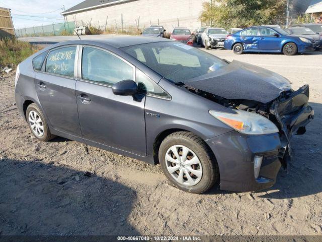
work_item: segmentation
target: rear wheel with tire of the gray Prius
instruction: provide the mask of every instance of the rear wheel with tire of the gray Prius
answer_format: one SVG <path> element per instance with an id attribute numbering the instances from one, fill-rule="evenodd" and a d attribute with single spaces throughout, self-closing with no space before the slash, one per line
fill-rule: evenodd
<path id="1" fill-rule="evenodd" d="M 36 103 L 27 107 L 26 120 L 32 134 L 40 141 L 49 141 L 55 138 L 49 131 L 45 116 Z"/>

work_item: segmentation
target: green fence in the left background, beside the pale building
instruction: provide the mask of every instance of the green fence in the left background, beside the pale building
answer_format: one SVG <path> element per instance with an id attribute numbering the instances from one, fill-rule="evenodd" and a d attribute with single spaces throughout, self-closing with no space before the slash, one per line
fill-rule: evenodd
<path id="1" fill-rule="evenodd" d="M 74 28 L 74 22 L 65 22 L 59 24 L 16 29 L 15 32 L 16 37 L 71 35 L 73 34 Z"/>

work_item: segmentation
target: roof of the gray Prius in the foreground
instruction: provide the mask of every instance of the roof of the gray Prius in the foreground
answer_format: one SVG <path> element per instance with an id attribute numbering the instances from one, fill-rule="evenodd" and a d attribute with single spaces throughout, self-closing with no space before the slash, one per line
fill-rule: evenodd
<path id="1" fill-rule="evenodd" d="M 105 44 L 115 48 L 123 48 L 127 46 L 132 46 L 132 45 L 166 42 L 166 41 L 171 41 L 171 40 L 166 38 L 160 38 L 160 37 L 126 36 L 126 37 L 113 37 L 113 38 L 107 38 L 107 39 L 65 41 L 56 45 Z"/>

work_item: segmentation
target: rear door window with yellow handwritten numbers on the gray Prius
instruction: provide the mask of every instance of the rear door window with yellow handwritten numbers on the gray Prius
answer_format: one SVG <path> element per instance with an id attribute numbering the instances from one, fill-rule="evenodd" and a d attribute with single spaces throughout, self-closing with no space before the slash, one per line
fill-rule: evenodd
<path id="1" fill-rule="evenodd" d="M 46 72 L 73 77 L 75 52 L 76 46 L 50 51 L 46 61 Z"/>

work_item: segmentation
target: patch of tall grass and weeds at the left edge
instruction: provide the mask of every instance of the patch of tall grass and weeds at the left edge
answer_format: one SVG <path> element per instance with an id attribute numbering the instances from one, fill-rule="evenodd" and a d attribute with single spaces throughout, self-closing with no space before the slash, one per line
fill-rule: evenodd
<path id="1" fill-rule="evenodd" d="M 0 66 L 17 66 L 30 55 L 36 53 L 41 48 L 31 45 L 28 42 L 19 41 L 15 38 L 0 40 Z"/>

